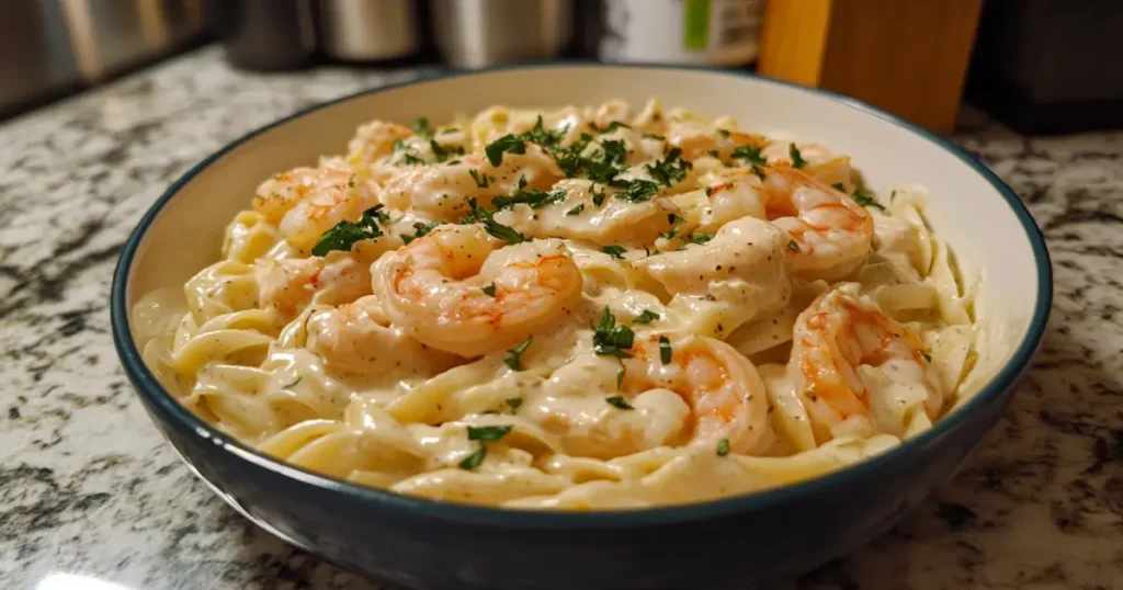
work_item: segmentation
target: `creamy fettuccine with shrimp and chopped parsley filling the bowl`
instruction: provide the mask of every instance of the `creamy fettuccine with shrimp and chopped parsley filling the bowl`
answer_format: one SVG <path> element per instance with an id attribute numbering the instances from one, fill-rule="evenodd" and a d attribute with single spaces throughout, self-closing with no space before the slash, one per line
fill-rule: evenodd
<path id="1" fill-rule="evenodd" d="M 696 502 L 884 452 L 968 393 L 974 293 L 923 190 L 875 196 L 729 117 L 375 120 L 245 198 L 220 260 L 135 307 L 145 361 L 220 430 L 354 483 Z"/>

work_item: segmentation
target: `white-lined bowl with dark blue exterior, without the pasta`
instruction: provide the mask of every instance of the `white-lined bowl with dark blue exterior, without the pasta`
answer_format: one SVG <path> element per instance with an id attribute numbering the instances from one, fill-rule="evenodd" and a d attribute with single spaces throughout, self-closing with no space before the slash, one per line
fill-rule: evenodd
<path id="1" fill-rule="evenodd" d="M 184 410 L 140 361 L 128 320 L 137 298 L 182 285 L 217 260 L 223 227 L 262 179 L 341 152 L 358 124 L 418 116 L 439 121 L 495 103 L 559 107 L 619 98 L 641 105 L 650 97 L 849 154 L 877 192 L 898 183 L 925 187 L 935 233 L 958 255 L 965 279 L 982 279 L 977 309 L 988 323 L 983 347 L 992 378 L 931 430 L 809 482 L 685 507 L 528 514 L 404 498 L 277 463 Z M 1044 242 L 1021 201 L 943 139 L 842 97 L 746 74 L 563 64 L 375 89 L 247 135 L 189 172 L 141 219 L 121 255 L 111 309 L 122 364 L 157 425 L 223 499 L 290 542 L 409 587 L 622 589 L 704 581 L 724 588 L 795 573 L 849 551 L 949 478 L 1005 408 L 1041 341 L 1051 292 Z"/>

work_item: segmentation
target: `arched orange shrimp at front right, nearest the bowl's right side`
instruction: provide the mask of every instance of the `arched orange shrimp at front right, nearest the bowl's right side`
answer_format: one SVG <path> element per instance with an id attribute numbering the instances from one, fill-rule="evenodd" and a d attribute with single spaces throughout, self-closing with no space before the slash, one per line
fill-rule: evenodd
<path id="1" fill-rule="evenodd" d="M 816 298 L 795 321 L 788 374 L 820 442 L 832 438 L 832 427 L 851 416 L 870 414 L 873 379 L 861 370 L 865 367 L 889 373 L 897 385 L 916 385 L 931 419 L 943 403 L 940 375 L 920 336 L 882 312 L 859 289 L 858 283 L 836 287 Z M 898 403 L 883 400 L 879 406 L 901 403 L 903 398 Z M 894 428 L 883 424 L 883 429 Z"/>

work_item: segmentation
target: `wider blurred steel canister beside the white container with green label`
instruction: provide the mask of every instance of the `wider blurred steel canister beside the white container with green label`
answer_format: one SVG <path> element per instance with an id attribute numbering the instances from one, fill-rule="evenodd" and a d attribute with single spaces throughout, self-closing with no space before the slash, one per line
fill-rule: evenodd
<path id="1" fill-rule="evenodd" d="M 432 0 L 437 47 L 459 67 L 557 57 L 573 35 L 573 0 Z"/>

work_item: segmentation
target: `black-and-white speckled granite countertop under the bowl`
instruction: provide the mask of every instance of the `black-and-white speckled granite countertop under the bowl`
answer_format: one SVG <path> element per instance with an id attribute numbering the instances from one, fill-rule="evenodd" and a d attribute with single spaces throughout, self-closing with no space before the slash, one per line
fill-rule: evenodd
<path id="1" fill-rule="evenodd" d="M 373 588 L 190 474 L 118 365 L 107 303 L 134 224 L 195 162 L 299 107 L 410 75 L 253 75 L 211 47 L 0 125 L 3 588 Z M 1044 229 L 1051 332 L 953 481 L 787 588 L 1123 584 L 1123 133 L 1038 139 L 984 120 L 959 140 Z"/>

